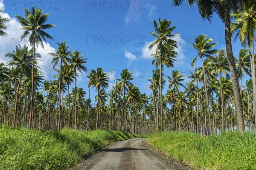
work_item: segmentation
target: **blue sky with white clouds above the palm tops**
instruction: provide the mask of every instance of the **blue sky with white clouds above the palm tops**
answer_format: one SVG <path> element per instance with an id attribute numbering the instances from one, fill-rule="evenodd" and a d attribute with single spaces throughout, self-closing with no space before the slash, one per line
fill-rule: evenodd
<path id="1" fill-rule="evenodd" d="M 212 22 L 202 20 L 195 6 L 191 9 L 186 2 L 180 7 L 174 7 L 171 0 L 111 0 L 111 1 L 85 1 L 85 0 L 61 0 L 61 1 L 0 1 L 2 14 L 9 17 L 7 33 L 9 37 L 2 37 L 0 42 L 1 62 L 7 62 L 4 57 L 6 52 L 14 49 L 17 43 L 27 43 L 19 39 L 22 31 L 15 18 L 16 14 L 24 16 L 22 8 L 35 6 L 42 8 L 44 13 L 50 13 L 47 23 L 56 26 L 47 33 L 55 38 L 55 41 L 45 43 L 45 49 L 38 49 L 42 53 L 42 61 L 39 65 L 44 70 L 46 79 L 51 79 L 52 72 L 51 56 L 58 45 L 56 42 L 66 41 L 70 50 L 81 51 L 87 60 L 86 67 L 95 69 L 102 67 L 110 73 L 110 86 L 114 85 L 114 79 L 120 77 L 122 69 L 128 68 L 134 73 L 134 85 L 139 87 L 142 93 L 148 91 L 152 69 L 152 58 L 147 46 L 154 40 L 150 32 L 154 31 L 153 20 L 158 18 L 172 21 L 176 26 L 174 33 L 178 44 L 177 60 L 174 68 L 165 68 L 164 73 L 171 76 L 172 69 L 178 69 L 189 81 L 190 63 L 196 55 L 196 51 L 190 45 L 199 34 L 208 34 L 219 42 L 217 49 L 225 48 L 224 23 L 216 15 Z M 241 49 L 240 42 L 233 43 L 234 56 L 237 57 Z M 201 66 L 198 61 L 195 65 Z M 87 90 L 86 73 L 80 75 L 77 86 Z M 107 90 L 109 91 L 109 89 Z M 96 94 L 93 90 L 93 95 Z M 165 92 L 164 92 L 165 93 Z"/>

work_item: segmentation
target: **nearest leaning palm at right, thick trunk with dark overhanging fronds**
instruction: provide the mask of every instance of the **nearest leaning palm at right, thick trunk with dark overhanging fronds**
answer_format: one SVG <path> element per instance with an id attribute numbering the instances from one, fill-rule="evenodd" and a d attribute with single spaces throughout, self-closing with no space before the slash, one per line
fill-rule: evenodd
<path id="1" fill-rule="evenodd" d="M 180 6 L 183 0 L 173 0 L 175 6 Z M 244 0 L 189 0 L 189 6 L 197 5 L 199 13 L 203 19 L 211 21 L 212 16 L 217 13 L 224 22 L 225 42 L 227 58 L 230 67 L 230 74 L 233 84 L 233 93 L 236 107 L 236 125 L 239 131 L 244 131 L 244 116 L 239 89 L 239 80 L 236 72 L 235 59 L 233 56 L 231 29 L 230 29 L 230 11 L 236 10 L 241 3 L 247 3 Z"/>

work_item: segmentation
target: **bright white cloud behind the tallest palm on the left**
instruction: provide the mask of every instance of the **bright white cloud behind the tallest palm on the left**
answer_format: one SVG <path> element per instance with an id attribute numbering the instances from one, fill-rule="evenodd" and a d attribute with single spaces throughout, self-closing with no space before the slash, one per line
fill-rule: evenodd
<path id="1" fill-rule="evenodd" d="M 3 1 L 0 1 L 0 8 L 4 9 Z M 20 44 L 23 46 L 24 44 L 29 45 L 28 38 L 25 40 L 21 40 L 20 36 L 23 33 L 22 27 L 18 20 L 15 17 L 10 17 L 9 14 L 1 13 L 2 17 L 9 18 L 9 22 L 6 23 L 7 29 L 5 30 L 7 36 L 0 37 L 0 62 L 8 62 L 10 59 L 6 58 L 5 55 L 8 52 L 11 52 L 15 49 L 15 46 Z M 36 52 L 41 54 L 41 61 L 38 61 L 38 66 L 42 68 L 45 78 L 52 78 L 55 71 L 52 70 L 52 56 L 48 55 L 48 53 L 55 53 L 56 49 L 53 48 L 48 42 L 43 42 L 44 48 L 38 45 L 36 48 Z M 31 47 L 30 47 L 31 48 Z"/>

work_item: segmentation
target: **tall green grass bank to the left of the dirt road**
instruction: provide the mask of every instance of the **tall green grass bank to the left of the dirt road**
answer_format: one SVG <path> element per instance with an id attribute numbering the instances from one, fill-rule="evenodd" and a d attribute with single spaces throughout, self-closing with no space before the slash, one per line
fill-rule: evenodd
<path id="1" fill-rule="evenodd" d="M 140 137 L 116 130 L 27 130 L 0 126 L 0 170 L 63 170 L 117 140 Z"/>

